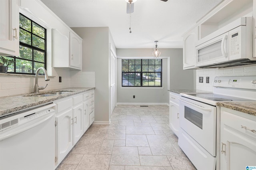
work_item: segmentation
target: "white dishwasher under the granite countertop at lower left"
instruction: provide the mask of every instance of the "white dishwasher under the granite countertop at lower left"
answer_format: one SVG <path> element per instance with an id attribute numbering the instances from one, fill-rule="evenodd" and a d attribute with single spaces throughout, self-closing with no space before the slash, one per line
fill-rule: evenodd
<path id="1" fill-rule="evenodd" d="M 0 118 L 0 170 L 54 170 L 55 104 Z"/>

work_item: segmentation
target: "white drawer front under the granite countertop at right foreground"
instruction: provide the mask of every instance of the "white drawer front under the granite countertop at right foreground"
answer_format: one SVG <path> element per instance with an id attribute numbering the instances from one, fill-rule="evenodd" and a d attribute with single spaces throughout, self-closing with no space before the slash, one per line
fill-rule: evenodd
<path id="1" fill-rule="evenodd" d="M 237 111 L 232 111 L 232 113 L 239 113 Z M 256 138 L 256 121 L 228 113 L 223 111 L 220 115 L 221 122 L 223 122 L 224 127 L 231 127 L 238 130 L 244 134 L 250 135 Z M 240 113 L 246 114 L 246 113 Z M 255 131 L 254 131 L 255 130 Z"/>

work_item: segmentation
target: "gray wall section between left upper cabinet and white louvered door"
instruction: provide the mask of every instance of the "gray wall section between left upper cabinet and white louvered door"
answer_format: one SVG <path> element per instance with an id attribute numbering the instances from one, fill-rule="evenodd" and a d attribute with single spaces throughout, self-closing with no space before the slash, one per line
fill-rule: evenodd
<path id="1" fill-rule="evenodd" d="M 82 70 L 95 71 L 95 121 L 109 121 L 109 44 L 114 42 L 108 27 L 72 28 L 82 39 Z M 72 83 L 72 82 L 71 82 Z"/>

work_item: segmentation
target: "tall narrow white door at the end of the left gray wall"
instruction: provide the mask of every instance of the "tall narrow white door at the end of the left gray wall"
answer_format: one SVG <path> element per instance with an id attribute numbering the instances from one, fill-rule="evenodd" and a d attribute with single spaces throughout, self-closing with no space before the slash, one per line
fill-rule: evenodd
<path id="1" fill-rule="evenodd" d="M 110 115 L 116 107 L 116 56 L 110 52 Z"/>

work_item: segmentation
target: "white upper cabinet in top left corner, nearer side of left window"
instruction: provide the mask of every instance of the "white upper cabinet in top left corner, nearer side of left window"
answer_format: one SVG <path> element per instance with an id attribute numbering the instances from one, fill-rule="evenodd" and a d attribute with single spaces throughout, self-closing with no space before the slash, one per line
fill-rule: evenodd
<path id="1" fill-rule="evenodd" d="M 17 0 L 0 0 L 0 55 L 19 55 L 19 6 Z"/>

